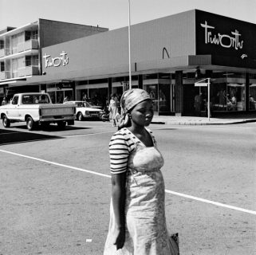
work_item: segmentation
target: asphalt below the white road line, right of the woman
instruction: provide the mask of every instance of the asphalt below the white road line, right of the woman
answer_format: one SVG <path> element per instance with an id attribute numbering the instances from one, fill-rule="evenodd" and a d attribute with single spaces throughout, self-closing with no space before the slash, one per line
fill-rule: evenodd
<path id="1" fill-rule="evenodd" d="M 166 194 L 167 228 L 179 233 L 180 254 L 255 254 L 255 215 Z"/>

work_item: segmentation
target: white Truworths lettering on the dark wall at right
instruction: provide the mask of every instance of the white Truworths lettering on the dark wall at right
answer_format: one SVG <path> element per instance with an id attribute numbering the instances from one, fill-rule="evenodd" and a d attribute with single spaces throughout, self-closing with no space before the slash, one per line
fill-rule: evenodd
<path id="1" fill-rule="evenodd" d="M 207 21 L 200 24 L 204 29 L 205 44 L 220 45 L 223 48 L 242 49 L 243 41 L 241 41 L 241 33 L 237 29 L 230 31 L 230 34 L 218 33 L 215 31 L 215 26 L 208 25 Z"/>

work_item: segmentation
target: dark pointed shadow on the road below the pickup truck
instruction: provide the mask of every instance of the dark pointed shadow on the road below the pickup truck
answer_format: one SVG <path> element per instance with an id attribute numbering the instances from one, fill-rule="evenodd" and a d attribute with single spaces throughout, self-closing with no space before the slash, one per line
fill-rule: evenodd
<path id="1" fill-rule="evenodd" d="M 41 135 L 33 132 L 22 132 L 0 129 L 0 146 L 10 143 L 26 143 L 45 139 L 63 139 L 56 135 Z"/>

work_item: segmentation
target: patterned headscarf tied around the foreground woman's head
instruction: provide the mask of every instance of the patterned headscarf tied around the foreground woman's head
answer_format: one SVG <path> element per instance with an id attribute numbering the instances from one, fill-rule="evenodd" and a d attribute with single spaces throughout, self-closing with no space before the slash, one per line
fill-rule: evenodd
<path id="1" fill-rule="evenodd" d="M 151 100 L 148 92 L 140 88 L 132 88 L 126 90 L 121 97 L 121 118 L 118 124 L 118 129 L 127 127 L 129 122 L 129 117 L 127 112 L 134 108 L 137 104 L 144 100 Z"/>

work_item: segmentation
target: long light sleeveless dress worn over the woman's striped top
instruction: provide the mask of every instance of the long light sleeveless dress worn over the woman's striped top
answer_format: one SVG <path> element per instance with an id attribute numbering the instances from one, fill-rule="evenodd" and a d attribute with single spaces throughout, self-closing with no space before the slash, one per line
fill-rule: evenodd
<path id="1" fill-rule="evenodd" d="M 152 136 L 154 146 L 146 147 L 127 128 L 123 130 L 134 143 L 127 164 L 125 242 L 124 247 L 116 251 L 116 245 L 113 245 L 115 214 L 111 201 L 104 255 L 178 254 L 174 241 L 167 233 L 164 182 L 160 171 L 163 167 L 163 157 L 156 147 L 156 141 Z"/>

